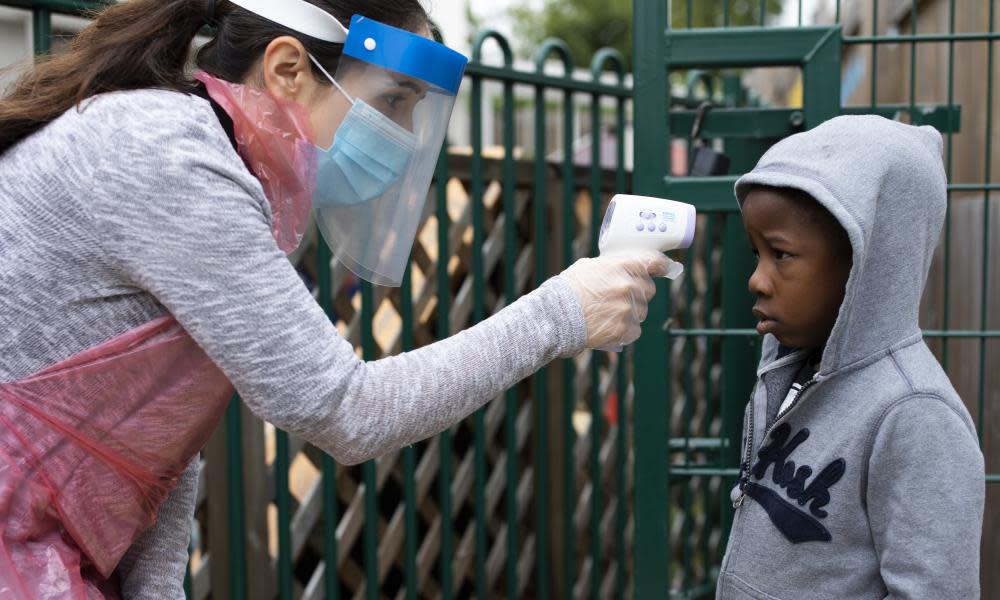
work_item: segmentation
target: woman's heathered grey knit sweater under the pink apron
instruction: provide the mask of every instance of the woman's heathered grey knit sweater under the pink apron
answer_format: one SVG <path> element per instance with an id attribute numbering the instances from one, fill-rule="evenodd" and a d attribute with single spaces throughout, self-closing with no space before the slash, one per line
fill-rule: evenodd
<path id="1" fill-rule="evenodd" d="M 120 92 L 67 112 L 0 156 L 0 381 L 169 312 L 255 414 L 357 463 L 443 430 L 585 343 L 557 277 L 452 338 L 362 362 L 270 220 L 205 100 Z M 196 462 L 119 565 L 125 597 L 183 597 Z"/>

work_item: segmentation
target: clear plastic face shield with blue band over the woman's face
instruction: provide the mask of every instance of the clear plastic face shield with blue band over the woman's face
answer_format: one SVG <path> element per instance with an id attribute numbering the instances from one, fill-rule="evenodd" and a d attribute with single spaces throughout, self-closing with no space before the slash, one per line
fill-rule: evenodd
<path id="1" fill-rule="evenodd" d="M 319 150 L 313 206 L 334 256 L 363 279 L 402 281 L 466 62 L 355 16 L 336 75 L 326 73 L 350 109 Z"/>

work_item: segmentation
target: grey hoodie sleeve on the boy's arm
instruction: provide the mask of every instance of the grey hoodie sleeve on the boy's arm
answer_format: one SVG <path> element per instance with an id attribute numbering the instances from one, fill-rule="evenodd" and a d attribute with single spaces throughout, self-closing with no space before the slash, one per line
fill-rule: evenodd
<path id="1" fill-rule="evenodd" d="M 983 455 L 944 401 L 912 396 L 875 433 L 868 520 L 888 598 L 978 598 Z"/>

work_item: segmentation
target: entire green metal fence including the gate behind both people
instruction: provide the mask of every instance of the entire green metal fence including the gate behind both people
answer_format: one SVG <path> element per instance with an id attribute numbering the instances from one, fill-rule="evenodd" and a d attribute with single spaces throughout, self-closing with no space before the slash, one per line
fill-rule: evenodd
<path id="1" fill-rule="evenodd" d="M 955 0 L 922 2 L 921 14 L 944 7 L 945 26 L 924 30 L 921 19 L 903 19 L 907 33 L 887 29 L 885 11 L 909 4 L 916 13 L 915 1 L 852 3 L 864 5 L 860 21 L 836 2 L 828 20 L 810 26 L 802 26 L 800 2 L 799 26 L 785 28 L 766 26 L 761 2 L 761 25 L 738 29 L 728 27 L 731 1 L 716 3 L 713 27 L 689 22 L 671 30 L 668 11 L 683 4 L 692 15 L 692 0 L 635 0 L 632 87 L 614 52 L 598 53 L 584 80 L 572 75 L 561 42 L 544 43 L 534 69 L 524 71 L 514 68 L 508 40 L 480 34 L 465 88 L 470 153 L 444 153 L 422 225 L 426 237 L 418 240 L 400 292 L 351 288 L 343 270 L 331 268 L 322 242 L 300 257 L 331 319 L 366 359 L 376 359 L 482 320 L 574 258 L 595 254 L 596 228 L 614 191 L 693 201 L 703 216 L 683 257 L 688 276 L 669 288 L 660 284 L 634 354 L 560 361 L 436 439 L 351 469 L 283 432 L 267 433 L 234 399 L 206 450 L 208 476 L 186 582 L 191 597 L 662 598 L 668 589 L 679 598 L 711 596 L 732 516 L 727 491 L 737 474 L 759 340 L 745 291 L 752 259 L 732 199 L 735 177 L 669 175 L 671 142 L 687 137 L 702 99 L 716 104 L 702 135 L 730 155 L 734 174 L 751 168 L 777 139 L 845 112 L 899 116 L 946 134 L 951 209 L 921 317 L 979 427 L 987 482 L 1000 481 L 1000 326 L 988 310 L 1000 299 L 996 262 L 989 260 L 997 253 L 990 203 L 998 189 L 991 142 L 994 2 L 978 4 L 978 16 L 966 14 L 969 6 L 958 11 Z M 0 1 L 32 11 L 37 53 L 49 49 L 53 13 L 81 14 L 103 4 Z M 901 22 L 898 10 L 892 18 Z M 487 44 L 500 49 L 501 64 L 483 62 Z M 917 68 L 928 58 L 921 48 L 937 48 L 945 65 L 940 73 Z M 984 51 L 981 90 L 970 91 L 956 67 L 980 66 L 964 61 L 963 48 Z M 553 58 L 562 75 L 545 70 Z M 897 59 L 905 70 L 887 63 Z M 851 79 L 858 60 L 869 65 L 862 77 L 868 88 L 848 93 L 842 82 L 858 85 Z M 778 66 L 800 70 L 801 106 L 747 97 L 742 75 Z M 887 72 L 907 71 L 898 85 L 884 81 Z M 685 73 L 690 93 L 673 96 L 672 77 Z M 501 88 L 498 158 L 487 158 L 484 149 L 490 86 Z M 515 139 L 511 126 L 521 96 L 534 104 L 530 143 Z M 568 151 L 581 104 L 590 107 L 589 166 L 576 164 Z M 609 110 L 616 131 L 610 171 L 600 167 L 599 143 Z M 632 174 L 622 137 L 630 110 L 639 124 Z M 552 127 L 560 138 L 554 143 Z M 525 146 L 533 155 L 528 161 L 516 156 Z M 547 160 L 554 147 L 563 149 L 561 157 Z M 468 197 L 458 207 L 456 185 Z M 388 342 L 377 326 L 387 312 L 399 320 Z M 615 420 L 605 417 L 608 402 Z M 589 415 L 582 427 L 575 423 L 580 415 Z M 305 495 L 294 492 L 302 464 L 315 471 Z M 984 597 L 1000 593 L 1000 582 L 989 577 L 1000 570 L 1000 523 L 989 514 L 997 499 L 988 486 Z"/>

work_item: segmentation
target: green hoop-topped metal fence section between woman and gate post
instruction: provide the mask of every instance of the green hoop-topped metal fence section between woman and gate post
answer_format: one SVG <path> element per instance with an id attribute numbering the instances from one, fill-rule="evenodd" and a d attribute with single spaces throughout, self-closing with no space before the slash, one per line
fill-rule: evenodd
<path id="1" fill-rule="evenodd" d="M 83 15 L 106 2 L 0 4 L 32 11 L 35 50 L 44 54 L 53 13 Z M 481 60 L 487 44 L 500 49 L 501 64 Z M 602 50 L 581 78 L 566 45 L 550 40 L 533 69 L 515 69 L 508 40 L 487 31 L 472 59 L 471 153 L 443 153 L 401 290 L 352 288 L 320 240 L 299 256 L 317 300 L 365 359 L 446 337 L 595 255 L 607 201 L 629 185 L 622 56 Z M 550 62 L 562 74 L 548 73 Z M 493 159 L 483 148 L 490 85 L 502 88 Z M 533 140 L 515 139 L 515 92 L 534 104 Z M 591 139 L 582 161 L 574 156 L 581 111 Z M 609 129 L 610 169 L 601 166 Z M 516 158 L 518 149 L 532 158 Z M 463 192 L 467 202 L 456 204 Z M 398 318 L 388 342 L 379 332 L 387 313 Z M 628 356 L 558 361 L 436 439 L 356 468 L 271 434 L 234 398 L 205 452 L 188 595 L 631 596 Z M 304 468 L 316 474 L 299 494 Z"/>

